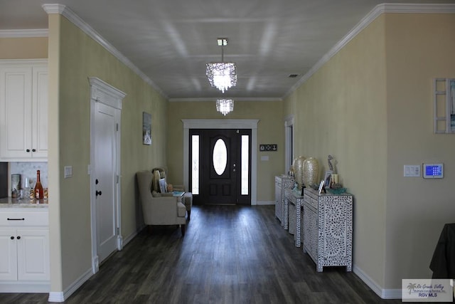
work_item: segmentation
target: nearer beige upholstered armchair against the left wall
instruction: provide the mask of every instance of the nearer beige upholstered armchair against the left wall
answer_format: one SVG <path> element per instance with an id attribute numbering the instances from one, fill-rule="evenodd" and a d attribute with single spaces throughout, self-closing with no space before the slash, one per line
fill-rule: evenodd
<path id="1" fill-rule="evenodd" d="M 175 196 L 156 197 L 152 195 L 152 174 L 149 170 L 136 173 L 139 185 L 144 224 L 146 225 L 180 225 L 182 236 L 185 235 L 186 207 Z"/>

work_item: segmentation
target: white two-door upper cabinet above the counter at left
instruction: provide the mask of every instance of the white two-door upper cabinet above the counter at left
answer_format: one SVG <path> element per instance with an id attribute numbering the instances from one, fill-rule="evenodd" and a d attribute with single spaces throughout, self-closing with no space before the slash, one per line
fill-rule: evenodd
<path id="1" fill-rule="evenodd" d="M 0 61 L 0 160 L 47 157 L 48 62 Z"/>

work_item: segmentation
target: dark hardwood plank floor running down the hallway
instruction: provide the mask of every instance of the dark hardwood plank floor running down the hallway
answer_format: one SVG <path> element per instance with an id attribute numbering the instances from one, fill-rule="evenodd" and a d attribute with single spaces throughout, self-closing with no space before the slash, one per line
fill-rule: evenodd
<path id="1" fill-rule="evenodd" d="M 355 246 L 355 245 L 354 245 Z M 0 303 L 48 303 L 3 293 Z M 316 266 L 274 206 L 193 206 L 177 226 L 144 229 L 65 303 L 401 303 L 382 300 L 345 268 Z"/>

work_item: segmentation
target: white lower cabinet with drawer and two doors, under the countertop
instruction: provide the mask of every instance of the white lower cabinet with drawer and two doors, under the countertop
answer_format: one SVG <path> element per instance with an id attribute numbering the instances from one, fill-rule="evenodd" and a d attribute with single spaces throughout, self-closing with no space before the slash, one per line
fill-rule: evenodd
<path id="1" fill-rule="evenodd" d="M 0 209 L 0 292 L 50 290 L 47 209 Z"/>

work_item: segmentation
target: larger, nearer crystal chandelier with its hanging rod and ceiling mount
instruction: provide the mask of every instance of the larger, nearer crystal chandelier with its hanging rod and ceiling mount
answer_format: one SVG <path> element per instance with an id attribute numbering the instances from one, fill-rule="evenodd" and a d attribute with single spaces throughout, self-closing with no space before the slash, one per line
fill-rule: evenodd
<path id="1" fill-rule="evenodd" d="M 225 93 L 230 87 L 237 85 L 237 67 L 233 62 L 224 62 L 224 48 L 228 45 L 228 38 L 218 38 L 218 46 L 221 46 L 221 62 L 206 64 L 205 75 L 211 86 Z"/>

